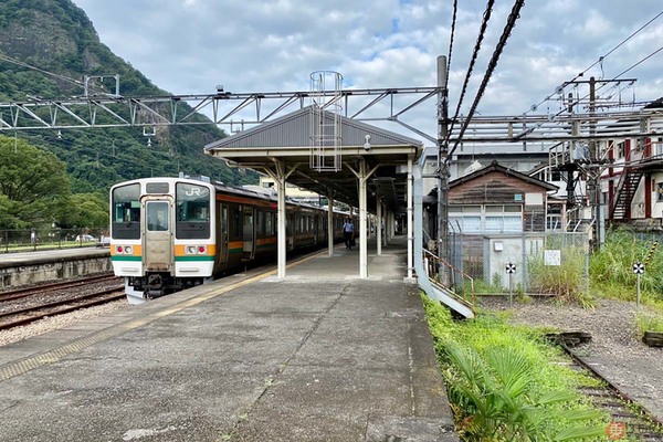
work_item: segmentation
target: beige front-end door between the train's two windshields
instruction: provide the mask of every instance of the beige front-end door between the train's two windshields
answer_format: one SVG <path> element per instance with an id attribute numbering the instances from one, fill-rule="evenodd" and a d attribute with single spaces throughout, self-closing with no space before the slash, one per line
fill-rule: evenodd
<path id="1" fill-rule="evenodd" d="M 172 272 L 172 199 L 146 200 L 143 250 L 145 270 L 148 272 Z"/>

